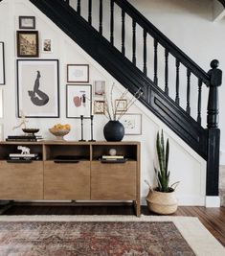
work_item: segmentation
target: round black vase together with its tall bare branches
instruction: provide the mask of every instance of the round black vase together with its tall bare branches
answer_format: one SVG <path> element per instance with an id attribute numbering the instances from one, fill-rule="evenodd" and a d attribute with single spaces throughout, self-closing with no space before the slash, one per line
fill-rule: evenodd
<path id="1" fill-rule="evenodd" d="M 124 90 L 121 97 L 118 99 L 118 103 L 121 101 L 126 101 L 126 107 L 120 113 L 118 112 L 118 104 L 113 104 L 113 90 L 115 87 L 115 83 L 112 84 L 110 91 L 110 106 L 107 98 L 105 98 L 105 113 L 104 115 L 109 119 L 109 122 L 103 128 L 104 138 L 107 141 L 121 141 L 124 138 L 124 126 L 120 123 L 120 119 L 124 116 L 125 112 L 129 109 L 131 105 L 133 105 L 142 95 L 143 91 L 141 88 L 137 90 L 137 92 L 131 97 L 131 99 L 126 100 L 125 97 L 128 94 L 128 90 Z"/>

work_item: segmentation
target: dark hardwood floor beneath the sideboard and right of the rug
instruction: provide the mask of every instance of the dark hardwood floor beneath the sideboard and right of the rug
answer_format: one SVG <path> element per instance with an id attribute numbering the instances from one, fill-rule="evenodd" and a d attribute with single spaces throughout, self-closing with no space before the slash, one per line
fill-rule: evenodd
<path id="1" fill-rule="evenodd" d="M 1 206 L 3 210 L 6 206 Z M 4 215 L 134 215 L 133 206 L 130 204 L 105 204 L 99 205 L 72 203 L 43 205 L 38 203 L 13 204 L 5 209 Z M 150 213 L 146 206 L 142 207 L 142 214 Z M 180 206 L 172 216 L 197 217 L 214 237 L 225 246 L 225 207 L 206 208 L 200 206 Z"/>

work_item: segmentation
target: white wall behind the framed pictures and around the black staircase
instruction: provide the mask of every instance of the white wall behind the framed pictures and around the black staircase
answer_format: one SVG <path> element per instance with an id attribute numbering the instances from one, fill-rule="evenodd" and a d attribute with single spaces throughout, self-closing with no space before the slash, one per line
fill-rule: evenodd
<path id="1" fill-rule="evenodd" d="M 149 19 L 158 26 L 166 35 L 185 50 L 191 58 L 195 59 L 205 70 L 209 69 L 209 63 L 213 58 L 219 58 L 221 67 L 225 65 L 221 58 L 224 30 L 223 22 L 214 24 L 211 21 L 212 10 L 210 1 L 131 1 L 139 3 L 138 8 Z M 169 2 L 169 3 L 168 3 Z M 181 4 L 182 2 L 182 4 Z M 183 3 L 184 2 L 184 3 Z M 90 83 L 95 80 L 106 81 L 107 88 L 114 79 L 92 58 L 83 52 L 79 46 L 67 35 L 64 35 L 55 24 L 46 16 L 36 10 L 28 0 L 4 0 L 0 4 L 0 41 L 6 46 L 6 85 L 4 89 L 4 117 L 0 120 L 4 125 L 5 137 L 13 132 L 21 133 L 20 130 L 12 131 L 11 128 L 19 123 L 16 118 L 16 49 L 15 33 L 18 30 L 19 15 L 34 15 L 36 17 L 36 30 L 41 38 L 50 37 L 54 40 L 54 53 L 40 53 L 40 58 L 59 59 L 59 96 L 60 96 L 60 118 L 58 119 L 30 119 L 29 125 L 40 128 L 40 133 L 46 139 L 54 137 L 49 133 L 56 123 L 69 123 L 72 130 L 66 137 L 68 140 L 79 140 L 79 121 L 66 119 L 65 113 L 65 88 L 66 88 L 66 64 L 87 63 L 90 65 Z M 179 23 L 179 26 L 177 24 Z M 222 26 L 223 29 L 222 29 Z M 182 32 L 182 36 L 181 36 Z M 214 35 L 214 36 L 212 36 Z M 215 39 L 215 36 L 220 38 Z M 117 42 L 116 42 L 117 43 Z M 224 56 L 224 55 L 223 55 Z M 123 90 L 116 82 L 119 90 Z M 220 95 L 224 88 L 221 87 Z M 223 105 L 223 103 L 221 103 Z M 225 106 L 225 105 L 224 105 Z M 221 107 L 222 108 L 222 107 Z M 130 109 L 131 113 L 143 114 L 143 134 L 137 136 L 125 136 L 124 140 L 138 140 L 142 142 L 142 197 L 146 196 L 147 187 L 145 179 L 153 182 L 153 162 L 156 162 L 155 137 L 157 130 L 163 128 L 170 142 L 169 170 L 171 171 L 171 182 L 181 181 L 177 188 L 179 203 L 183 205 L 204 205 L 205 201 L 205 161 L 192 151 L 180 138 L 169 130 L 161 121 L 152 115 L 143 105 L 137 103 Z M 222 115 L 222 109 L 221 109 Z M 95 138 L 103 139 L 102 128 L 107 122 L 104 116 L 95 117 Z M 225 128 L 225 121 L 221 120 L 221 128 Z M 88 124 L 88 121 L 86 122 Z M 89 126 L 85 128 L 85 139 L 89 139 Z M 223 131 L 222 131 L 223 138 Z M 223 140 L 222 140 L 223 141 Z M 222 144 L 225 148 L 225 144 Z"/>

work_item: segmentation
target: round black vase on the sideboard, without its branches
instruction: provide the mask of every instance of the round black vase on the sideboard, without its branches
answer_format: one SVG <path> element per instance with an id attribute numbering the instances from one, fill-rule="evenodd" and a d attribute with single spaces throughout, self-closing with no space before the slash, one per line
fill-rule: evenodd
<path id="1" fill-rule="evenodd" d="M 108 121 L 103 128 L 106 141 L 121 141 L 124 138 L 124 126 L 119 121 Z"/>

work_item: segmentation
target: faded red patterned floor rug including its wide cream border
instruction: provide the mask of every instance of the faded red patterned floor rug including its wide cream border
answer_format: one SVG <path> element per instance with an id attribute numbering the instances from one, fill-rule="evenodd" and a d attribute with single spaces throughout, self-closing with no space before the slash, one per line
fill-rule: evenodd
<path id="1" fill-rule="evenodd" d="M 0 256 L 221 256 L 197 218 L 0 216 Z"/>

